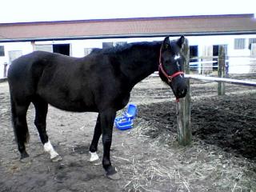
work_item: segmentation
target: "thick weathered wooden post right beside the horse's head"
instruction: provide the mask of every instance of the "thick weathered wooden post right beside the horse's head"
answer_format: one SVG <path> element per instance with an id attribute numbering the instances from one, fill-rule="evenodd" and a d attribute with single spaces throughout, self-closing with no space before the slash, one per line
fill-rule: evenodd
<path id="1" fill-rule="evenodd" d="M 182 57 L 184 61 L 184 73 L 190 73 L 190 47 L 186 39 L 185 45 L 182 47 Z M 189 145 L 192 140 L 192 130 L 190 126 L 190 79 L 186 78 L 187 94 L 185 98 L 179 99 L 176 106 L 177 122 L 178 122 L 178 143 L 182 146 Z"/>

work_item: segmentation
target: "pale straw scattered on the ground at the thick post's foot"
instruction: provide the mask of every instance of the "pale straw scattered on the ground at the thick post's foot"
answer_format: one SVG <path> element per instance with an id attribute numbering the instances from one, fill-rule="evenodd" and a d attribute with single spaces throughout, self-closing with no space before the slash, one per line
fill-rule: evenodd
<path id="1" fill-rule="evenodd" d="M 130 136 L 148 143 L 148 151 L 122 162 L 124 191 L 255 191 L 256 166 L 218 146 L 194 140 L 192 146 L 178 146 L 174 134 L 150 138 L 152 126 L 137 119 Z M 154 128 L 153 128 L 154 129 Z M 168 141 L 167 141 L 168 140 Z M 150 154 L 150 155 L 149 155 Z M 145 159 L 149 155 L 150 159 Z"/>

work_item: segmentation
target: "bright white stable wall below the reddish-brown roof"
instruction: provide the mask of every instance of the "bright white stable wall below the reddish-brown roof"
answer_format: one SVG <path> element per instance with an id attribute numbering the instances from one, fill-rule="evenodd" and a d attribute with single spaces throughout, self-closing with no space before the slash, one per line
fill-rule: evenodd
<path id="1" fill-rule="evenodd" d="M 163 37 L 164 38 L 164 37 Z M 53 44 L 70 44 L 70 56 L 81 58 L 85 55 L 85 48 L 102 48 L 102 42 L 144 42 L 144 41 L 162 41 L 163 38 L 107 38 L 107 39 L 88 39 L 88 40 L 66 40 L 66 41 L 46 41 L 35 42 L 35 45 L 53 45 Z M 176 39 L 174 37 L 171 39 Z M 202 55 L 205 46 L 214 45 L 228 45 L 228 56 L 250 56 L 249 38 L 256 38 L 256 34 L 250 35 L 216 35 L 216 36 L 188 36 L 190 46 L 198 46 L 198 56 Z M 234 38 L 246 38 L 246 49 L 234 50 Z M 22 54 L 29 54 L 33 51 L 31 42 L 6 42 L 0 43 L 0 46 L 5 48 L 5 56 L 0 57 L 0 78 L 3 78 L 4 63 L 9 61 L 9 51 L 22 50 Z M 248 73 L 250 66 L 240 66 L 236 69 L 237 65 L 250 63 L 248 58 L 230 58 L 230 73 Z"/>

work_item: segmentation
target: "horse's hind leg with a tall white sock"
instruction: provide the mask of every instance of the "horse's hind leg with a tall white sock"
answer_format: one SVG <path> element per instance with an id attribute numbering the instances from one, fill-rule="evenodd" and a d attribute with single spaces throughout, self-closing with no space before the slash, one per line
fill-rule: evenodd
<path id="1" fill-rule="evenodd" d="M 48 112 L 48 103 L 43 101 L 41 98 L 36 98 L 34 99 L 33 104 L 35 108 L 34 125 L 38 129 L 43 148 L 47 153 L 50 154 L 50 159 L 52 162 L 61 161 L 61 156 L 59 156 L 59 154 L 54 150 L 54 147 L 51 145 L 46 133 L 46 115 Z"/>

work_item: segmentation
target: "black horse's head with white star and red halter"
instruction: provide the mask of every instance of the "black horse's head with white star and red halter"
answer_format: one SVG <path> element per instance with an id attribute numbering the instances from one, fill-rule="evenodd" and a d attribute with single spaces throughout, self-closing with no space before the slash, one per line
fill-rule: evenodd
<path id="1" fill-rule="evenodd" d="M 185 97 L 187 90 L 186 81 L 182 72 L 185 60 L 182 54 L 180 54 L 180 50 L 184 44 L 184 36 L 171 42 L 169 37 L 166 37 L 160 49 L 159 76 L 162 81 L 171 87 L 176 98 Z"/>

